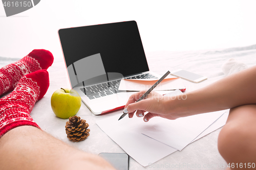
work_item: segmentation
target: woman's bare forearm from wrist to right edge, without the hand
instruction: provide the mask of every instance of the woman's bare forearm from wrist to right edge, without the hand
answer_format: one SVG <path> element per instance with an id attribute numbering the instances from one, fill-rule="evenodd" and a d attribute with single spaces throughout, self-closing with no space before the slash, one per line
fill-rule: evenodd
<path id="1" fill-rule="evenodd" d="M 187 93 L 187 99 L 177 102 L 175 108 L 193 115 L 246 104 L 256 104 L 256 66 Z"/>

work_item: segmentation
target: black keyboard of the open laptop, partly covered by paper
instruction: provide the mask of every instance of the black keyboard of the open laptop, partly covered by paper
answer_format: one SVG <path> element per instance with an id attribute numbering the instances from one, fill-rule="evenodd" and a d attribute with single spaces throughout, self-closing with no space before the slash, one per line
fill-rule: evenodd
<path id="1" fill-rule="evenodd" d="M 138 76 L 132 76 L 124 79 L 157 79 L 157 77 L 151 74 L 143 74 Z M 101 83 L 93 86 L 83 87 L 80 90 L 88 96 L 89 99 L 96 99 L 102 96 L 118 93 L 118 87 L 121 80 L 115 80 L 107 83 Z"/>

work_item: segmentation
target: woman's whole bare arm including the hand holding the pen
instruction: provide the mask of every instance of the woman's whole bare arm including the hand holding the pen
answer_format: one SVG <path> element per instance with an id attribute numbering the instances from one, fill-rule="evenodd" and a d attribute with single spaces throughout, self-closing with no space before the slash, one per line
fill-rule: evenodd
<path id="1" fill-rule="evenodd" d="M 134 101 L 139 93 L 132 96 Z M 256 104 L 256 66 L 237 72 L 204 88 L 188 92 L 186 100 L 178 100 L 178 98 L 156 100 L 154 95 L 153 92 L 148 99 L 138 103 L 132 100 L 127 102 L 125 107 L 130 112 L 130 117 L 133 116 L 135 110 L 138 110 L 137 116 L 139 113 L 144 115 L 144 112 L 148 111 L 149 113 L 144 116 L 147 122 L 154 116 L 176 119 L 246 104 Z"/>

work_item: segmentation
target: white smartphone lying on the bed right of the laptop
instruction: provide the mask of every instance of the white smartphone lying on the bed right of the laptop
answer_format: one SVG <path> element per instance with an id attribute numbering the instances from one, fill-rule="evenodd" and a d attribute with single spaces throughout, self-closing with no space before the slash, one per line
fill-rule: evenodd
<path id="1" fill-rule="evenodd" d="M 188 80 L 193 83 L 199 83 L 199 82 L 207 79 L 207 77 L 205 77 L 205 76 L 201 76 L 201 75 L 195 74 L 193 72 L 186 71 L 184 69 L 178 69 L 175 71 L 171 71 L 170 75 L 180 77 L 182 79 Z"/>

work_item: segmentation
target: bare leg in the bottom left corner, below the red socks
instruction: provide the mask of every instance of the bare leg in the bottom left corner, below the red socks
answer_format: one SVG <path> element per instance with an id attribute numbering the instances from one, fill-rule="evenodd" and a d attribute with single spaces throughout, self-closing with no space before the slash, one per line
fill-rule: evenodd
<path id="1" fill-rule="evenodd" d="M 0 138 L 0 169 L 114 169 L 99 156 L 79 151 L 32 126 Z"/>

